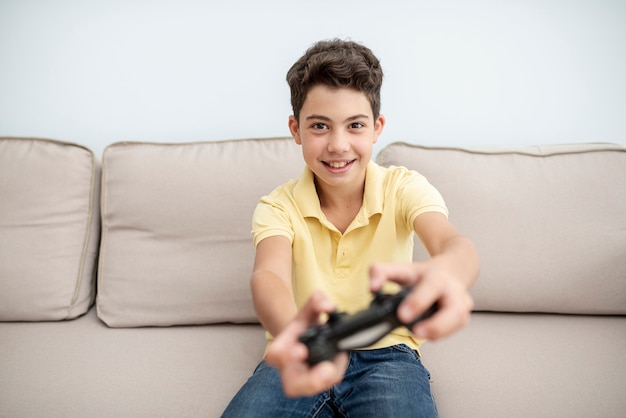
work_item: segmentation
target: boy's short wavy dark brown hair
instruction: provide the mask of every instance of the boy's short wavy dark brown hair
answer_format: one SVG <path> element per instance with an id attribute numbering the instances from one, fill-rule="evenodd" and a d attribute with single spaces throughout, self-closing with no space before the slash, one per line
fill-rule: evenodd
<path id="1" fill-rule="evenodd" d="M 318 84 L 349 87 L 365 93 L 376 119 L 380 113 L 382 82 L 383 69 L 372 51 L 356 42 L 340 39 L 314 44 L 287 72 L 296 120 L 300 119 L 307 93 Z"/>

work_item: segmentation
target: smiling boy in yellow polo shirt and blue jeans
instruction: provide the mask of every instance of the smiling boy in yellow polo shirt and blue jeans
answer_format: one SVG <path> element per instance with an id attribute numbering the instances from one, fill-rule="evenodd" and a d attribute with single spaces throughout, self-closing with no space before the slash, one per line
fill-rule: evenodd
<path id="1" fill-rule="evenodd" d="M 289 130 L 306 169 L 254 214 L 251 287 L 270 343 L 224 416 L 437 416 L 418 349 L 468 321 L 478 259 L 424 177 L 371 161 L 385 125 L 382 78 L 368 48 L 340 40 L 317 43 L 287 73 Z M 414 232 L 427 262 L 412 263 Z M 435 301 L 438 313 L 412 332 L 398 328 L 371 347 L 306 364 L 298 336 L 322 314 L 364 309 L 372 291 L 398 285 L 414 285 L 400 320 Z"/>

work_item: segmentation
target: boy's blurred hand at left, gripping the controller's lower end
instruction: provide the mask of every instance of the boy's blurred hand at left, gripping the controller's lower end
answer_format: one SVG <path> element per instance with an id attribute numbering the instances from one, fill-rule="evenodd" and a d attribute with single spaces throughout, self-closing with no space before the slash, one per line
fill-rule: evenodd
<path id="1" fill-rule="evenodd" d="M 296 319 L 270 345 L 265 360 L 278 368 L 287 396 L 315 395 L 343 379 L 348 367 L 348 356 L 345 353 L 338 354 L 332 362 L 323 361 L 310 367 L 306 363 L 306 345 L 298 341 L 298 337 L 319 320 L 320 314 L 333 310 L 333 304 L 323 293 L 314 293 Z"/>

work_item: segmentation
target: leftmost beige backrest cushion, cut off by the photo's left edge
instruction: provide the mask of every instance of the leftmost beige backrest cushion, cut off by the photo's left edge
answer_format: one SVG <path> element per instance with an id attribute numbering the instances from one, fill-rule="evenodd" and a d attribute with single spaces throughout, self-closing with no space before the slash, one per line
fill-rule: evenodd
<path id="1" fill-rule="evenodd" d="M 99 175 L 80 145 L 0 138 L 0 320 L 63 320 L 89 309 Z"/>

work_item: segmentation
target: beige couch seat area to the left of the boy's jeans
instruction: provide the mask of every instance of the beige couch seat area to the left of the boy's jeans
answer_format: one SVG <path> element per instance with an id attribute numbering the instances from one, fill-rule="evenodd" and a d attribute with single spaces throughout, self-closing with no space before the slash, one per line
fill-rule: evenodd
<path id="1" fill-rule="evenodd" d="M 260 325 L 0 324 L 1 417 L 219 417 L 261 360 Z"/>

